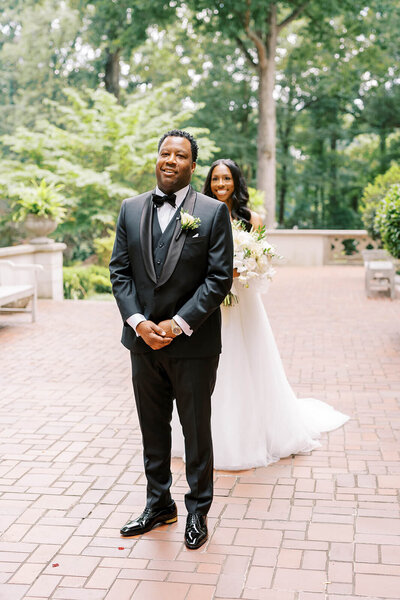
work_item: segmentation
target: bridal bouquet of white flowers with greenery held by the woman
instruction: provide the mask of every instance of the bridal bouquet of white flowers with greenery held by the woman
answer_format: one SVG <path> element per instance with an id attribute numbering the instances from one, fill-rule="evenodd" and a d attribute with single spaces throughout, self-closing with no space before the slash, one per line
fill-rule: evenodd
<path id="1" fill-rule="evenodd" d="M 271 259 L 277 256 L 275 249 L 267 242 L 265 226 L 246 231 L 241 221 L 234 221 L 233 230 L 233 268 L 239 276 L 235 282 L 248 288 L 263 292 L 267 282 L 272 279 L 275 269 Z M 238 298 L 232 292 L 224 300 L 224 306 L 237 304 Z"/>

